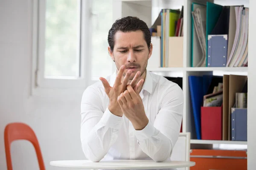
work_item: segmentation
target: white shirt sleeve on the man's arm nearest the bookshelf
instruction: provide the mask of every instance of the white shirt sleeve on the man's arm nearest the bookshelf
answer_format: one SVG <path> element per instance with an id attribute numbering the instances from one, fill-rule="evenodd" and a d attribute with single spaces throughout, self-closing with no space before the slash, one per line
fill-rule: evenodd
<path id="1" fill-rule="evenodd" d="M 180 133 L 183 115 L 183 91 L 178 85 L 168 88 L 162 97 L 154 123 L 135 130 L 138 144 L 154 161 L 165 161 L 172 155 Z"/>

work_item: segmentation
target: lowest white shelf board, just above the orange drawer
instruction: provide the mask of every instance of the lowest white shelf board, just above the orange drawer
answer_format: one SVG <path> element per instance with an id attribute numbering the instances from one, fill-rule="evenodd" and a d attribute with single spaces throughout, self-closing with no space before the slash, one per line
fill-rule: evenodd
<path id="1" fill-rule="evenodd" d="M 247 141 L 219 141 L 219 140 L 197 140 L 191 139 L 191 144 L 247 144 Z"/>

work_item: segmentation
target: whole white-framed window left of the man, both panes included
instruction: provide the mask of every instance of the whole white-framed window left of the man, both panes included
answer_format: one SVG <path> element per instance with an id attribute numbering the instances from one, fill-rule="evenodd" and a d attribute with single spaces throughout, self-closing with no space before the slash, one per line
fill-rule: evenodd
<path id="1" fill-rule="evenodd" d="M 36 86 L 84 89 L 112 74 L 112 0 L 35 0 L 33 15 Z"/>

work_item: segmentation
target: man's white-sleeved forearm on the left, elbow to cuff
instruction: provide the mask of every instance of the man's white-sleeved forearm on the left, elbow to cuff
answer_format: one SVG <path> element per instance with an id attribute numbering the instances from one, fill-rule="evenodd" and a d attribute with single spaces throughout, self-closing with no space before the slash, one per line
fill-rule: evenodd
<path id="1" fill-rule="evenodd" d="M 118 137 L 118 131 L 122 124 L 122 117 L 113 115 L 108 109 L 100 121 L 90 130 L 81 131 L 82 148 L 87 159 L 100 161 L 108 153 Z"/>

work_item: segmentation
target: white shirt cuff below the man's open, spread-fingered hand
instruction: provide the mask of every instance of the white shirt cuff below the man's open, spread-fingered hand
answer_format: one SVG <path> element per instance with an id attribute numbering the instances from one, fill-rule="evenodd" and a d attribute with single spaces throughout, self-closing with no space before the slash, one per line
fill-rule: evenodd
<path id="1" fill-rule="evenodd" d="M 119 129 L 122 125 L 122 117 L 116 116 L 113 113 L 111 113 L 111 111 L 108 110 L 108 107 L 100 121 L 104 125 L 111 127 L 113 129 Z"/>

